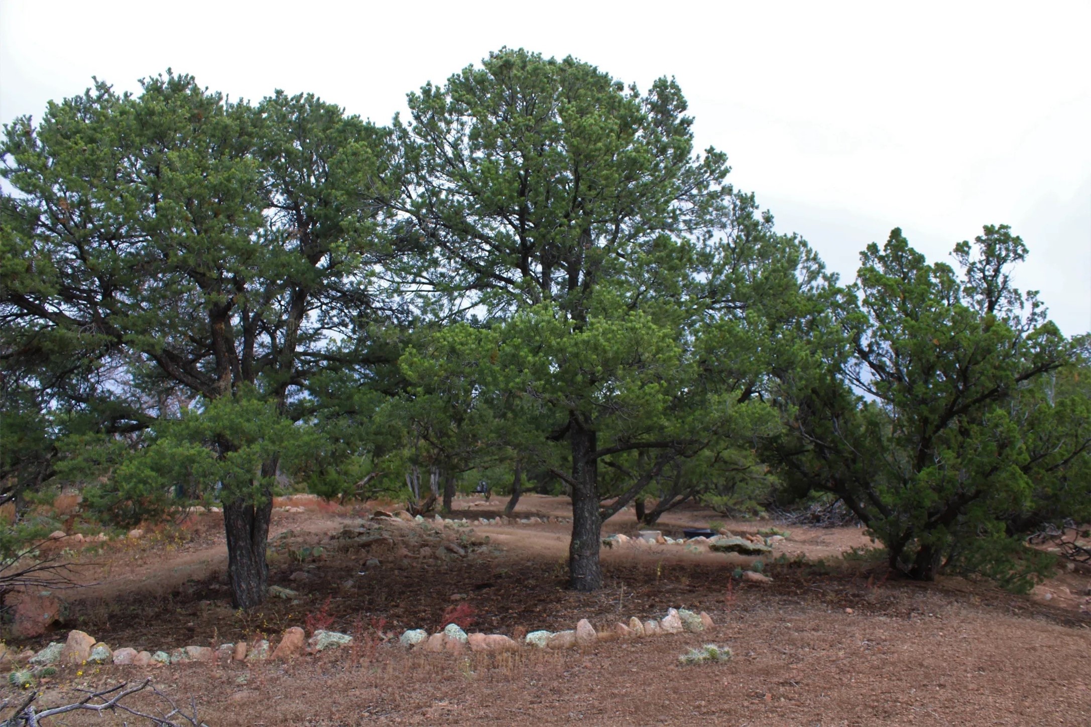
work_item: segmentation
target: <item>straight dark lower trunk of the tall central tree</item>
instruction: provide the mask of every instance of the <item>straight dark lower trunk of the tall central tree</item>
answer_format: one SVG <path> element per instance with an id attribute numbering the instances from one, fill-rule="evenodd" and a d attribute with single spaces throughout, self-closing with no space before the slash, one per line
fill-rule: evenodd
<path id="1" fill-rule="evenodd" d="M 572 444 L 572 543 L 568 546 L 570 586 L 590 592 L 602 587 L 599 564 L 602 523 L 599 520 L 598 463 L 590 458 L 597 438 L 573 417 Z"/>

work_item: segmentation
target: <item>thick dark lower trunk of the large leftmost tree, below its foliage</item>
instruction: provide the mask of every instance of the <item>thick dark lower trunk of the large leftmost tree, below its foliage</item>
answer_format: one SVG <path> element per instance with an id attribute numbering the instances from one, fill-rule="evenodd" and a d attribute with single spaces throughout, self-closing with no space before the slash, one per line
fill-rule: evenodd
<path id="1" fill-rule="evenodd" d="M 265 492 L 265 504 L 261 506 L 255 508 L 242 498 L 224 503 L 232 608 L 249 610 L 265 600 L 269 580 L 265 541 L 272 513 L 273 493 L 268 491 Z"/>

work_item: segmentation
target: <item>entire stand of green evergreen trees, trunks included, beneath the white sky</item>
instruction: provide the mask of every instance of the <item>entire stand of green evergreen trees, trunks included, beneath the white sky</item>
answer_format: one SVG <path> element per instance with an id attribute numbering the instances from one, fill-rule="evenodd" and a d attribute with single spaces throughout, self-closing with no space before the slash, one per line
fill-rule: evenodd
<path id="1" fill-rule="evenodd" d="M 385 127 L 141 85 L 4 128 L 0 549 L 62 486 L 122 526 L 217 503 L 251 608 L 285 477 L 564 492 L 580 591 L 628 504 L 834 497 L 910 577 L 1008 585 L 1045 568 L 1026 533 L 1091 520 L 1088 338 L 1011 286 L 1006 226 L 952 264 L 896 229 L 842 284 L 673 80 L 572 58 L 502 49 Z"/>

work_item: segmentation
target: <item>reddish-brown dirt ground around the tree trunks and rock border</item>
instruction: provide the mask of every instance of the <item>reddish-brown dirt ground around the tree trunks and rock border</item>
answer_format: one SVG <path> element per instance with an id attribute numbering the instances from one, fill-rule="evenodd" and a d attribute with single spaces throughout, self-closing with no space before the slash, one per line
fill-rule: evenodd
<path id="1" fill-rule="evenodd" d="M 873 544 L 856 528 L 789 527 L 775 546 L 774 558 L 783 558 L 763 559 L 769 584 L 730 577 L 754 559 L 621 546 L 603 549 L 607 587 L 577 594 L 563 587 L 563 523 L 472 525 L 460 540 L 465 557 L 418 525 L 389 527 L 388 540 L 361 550 L 336 538 L 363 522 L 360 509 L 303 504 L 305 512 L 275 513 L 271 551 L 271 581 L 299 598 L 232 611 L 221 522 L 206 514 L 181 532 L 87 557 L 97 564 L 83 577 L 96 584 L 69 595 L 59 634 L 9 644 L 37 648 L 74 628 L 113 647 L 169 651 L 257 633 L 275 641 L 310 615 L 353 633 L 350 653 L 256 666 L 67 667 L 40 701 L 152 677 L 165 693 L 192 699 L 208 725 L 1091 725 L 1088 573 L 1062 570 L 1031 596 L 955 577 L 918 584 L 870 559 L 863 549 Z M 503 504 L 459 499 L 456 515 L 492 517 Z M 566 506 L 530 496 L 516 516 L 565 516 Z M 691 508 L 658 528 L 673 536 L 712 521 L 735 534 L 771 525 Z M 635 532 L 624 511 L 603 527 Z M 317 556 L 302 550 L 315 546 Z M 579 618 L 601 630 L 668 607 L 705 610 L 718 625 L 586 652 L 467 657 L 406 653 L 380 635 L 434 630 L 453 604 L 473 609 L 471 630 L 516 635 L 573 628 Z M 679 665 L 682 652 L 707 642 L 729 646 L 733 658 Z M 122 724 L 110 719 L 56 724 Z"/>

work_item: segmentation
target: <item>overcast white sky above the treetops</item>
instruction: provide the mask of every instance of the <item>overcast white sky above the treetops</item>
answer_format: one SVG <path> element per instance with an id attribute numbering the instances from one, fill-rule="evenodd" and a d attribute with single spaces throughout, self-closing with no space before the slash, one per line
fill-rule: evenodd
<path id="1" fill-rule="evenodd" d="M 851 279 L 900 226 L 930 259 L 984 224 L 1066 334 L 1091 330 L 1091 2 L 0 0 L 0 121 L 172 67 L 232 97 L 311 91 L 385 122 L 507 45 L 647 88 L 674 75 L 702 146 Z"/>

